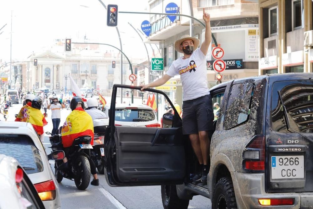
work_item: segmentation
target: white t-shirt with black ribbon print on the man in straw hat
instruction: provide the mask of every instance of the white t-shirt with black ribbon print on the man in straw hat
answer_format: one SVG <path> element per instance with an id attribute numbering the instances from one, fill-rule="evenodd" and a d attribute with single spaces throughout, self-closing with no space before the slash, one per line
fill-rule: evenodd
<path id="1" fill-rule="evenodd" d="M 188 59 L 175 60 L 167 75 L 180 75 L 182 81 L 182 100 L 191 100 L 209 94 L 207 78 L 207 60 L 200 48 L 193 51 Z"/>

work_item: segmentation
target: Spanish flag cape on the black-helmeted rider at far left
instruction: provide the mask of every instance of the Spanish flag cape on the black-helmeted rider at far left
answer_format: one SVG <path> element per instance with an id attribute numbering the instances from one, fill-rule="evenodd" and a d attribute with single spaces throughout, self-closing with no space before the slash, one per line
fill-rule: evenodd
<path id="1" fill-rule="evenodd" d="M 28 105 L 25 105 L 28 106 Z M 26 111 L 25 111 L 26 109 Z M 22 122 L 31 123 L 38 135 L 44 134 L 44 126 L 47 125 L 47 121 L 40 110 L 33 107 L 25 107 Z"/>

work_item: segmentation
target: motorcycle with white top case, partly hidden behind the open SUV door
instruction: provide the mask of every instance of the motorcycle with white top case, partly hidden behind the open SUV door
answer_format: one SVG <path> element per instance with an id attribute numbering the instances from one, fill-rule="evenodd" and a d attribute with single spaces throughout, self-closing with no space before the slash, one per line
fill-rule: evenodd
<path id="1" fill-rule="evenodd" d="M 95 119 L 94 123 L 94 145 L 90 150 L 90 158 L 94 161 L 95 166 L 100 174 L 104 174 L 104 138 L 105 131 L 109 125 L 109 118 Z"/>

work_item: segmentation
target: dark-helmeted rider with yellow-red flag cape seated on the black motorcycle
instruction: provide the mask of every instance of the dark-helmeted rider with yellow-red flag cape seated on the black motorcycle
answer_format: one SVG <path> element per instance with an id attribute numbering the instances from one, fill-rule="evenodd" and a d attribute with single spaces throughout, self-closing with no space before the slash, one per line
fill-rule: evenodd
<path id="1" fill-rule="evenodd" d="M 66 121 L 62 127 L 61 135 L 65 155 L 67 155 L 66 148 L 70 147 L 73 144 L 75 138 L 85 135 L 91 136 L 91 145 L 93 145 L 94 140 L 94 127 L 92 125 L 92 118 L 84 110 L 84 101 L 80 97 L 73 97 L 70 103 L 70 108 L 72 112 L 66 118 Z M 67 157 L 63 159 L 63 162 L 64 163 L 57 168 L 58 170 L 64 170 L 69 168 Z M 91 174 L 94 177 L 90 184 L 98 186 L 99 179 L 96 173 L 95 163 L 91 159 L 89 159 L 89 163 Z"/>

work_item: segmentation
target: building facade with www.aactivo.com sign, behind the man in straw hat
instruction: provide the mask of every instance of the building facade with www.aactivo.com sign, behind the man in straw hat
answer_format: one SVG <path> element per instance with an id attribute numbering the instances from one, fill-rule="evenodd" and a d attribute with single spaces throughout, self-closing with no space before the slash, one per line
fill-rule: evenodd
<path id="1" fill-rule="evenodd" d="M 210 13 L 212 33 L 217 40 L 218 46 L 225 51 L 223 60 L 226 62 L 226 70 L 222 72 L 222 81 L 236 78 L 258 75 L 258 1 L 257 0 L 150 0 L 150 11 L 165 13 L 168 3 L 176 3 L 178 12 L 191 15 L 202 22 L 203 8 Z M 147 37 L 147 42 L 158 43 L 162 49 L 164 58 L 164 73 L 168 70 L 173 60 L 183 54 L 174 49 L 174 42 L 184 34 L 190 34 L 200 39 L 200 44 L 204 40 L 204 27 L 197 21 L 190 18 L 177 17 L 170 21 L 167 16 L 151 15 L 151 34 Z M 191 27 L 190 27 L 191 25 Z M 211 50 L 207 54 L 207 77 L 208 87 L 216 84 L 216 72 L 212 69 L 214 61 Z M 177 81 L 176 91 L 169 91 L 171 99 L 176 99 L 178 104 L 182 104 L 182 87 L 179 76 L 172 80 Z"/>

